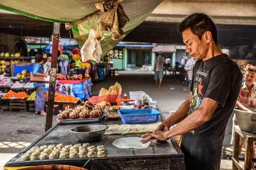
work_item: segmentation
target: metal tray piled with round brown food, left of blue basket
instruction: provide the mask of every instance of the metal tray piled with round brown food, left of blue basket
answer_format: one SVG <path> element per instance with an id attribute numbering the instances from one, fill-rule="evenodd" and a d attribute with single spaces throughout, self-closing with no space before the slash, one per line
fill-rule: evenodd
<path id="1" fill-rule="evenodd" d="M 102 108 L 93 105 L 92 102 L 82 102 L 83 105 L 78 105 L 76 108 L 65 108 L 64 111 L 59 111 L 57 120 L 60 124 L 76 124 L 76 123 L 95 123 L 101 122 L 104 118 Z"/>

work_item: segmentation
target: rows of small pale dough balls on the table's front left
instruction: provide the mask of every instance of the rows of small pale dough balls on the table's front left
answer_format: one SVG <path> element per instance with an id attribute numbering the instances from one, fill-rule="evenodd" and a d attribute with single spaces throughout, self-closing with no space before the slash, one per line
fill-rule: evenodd
<path id="1" fill-rule="evenodd" d="M 90 146 L 89 143 L 66 145 L 46 145 L 32 147 L 21 156 L 21 161 L 33 161 L 44 159 L 70 159 L 70 158 L 93 158 L 106 157 L 106 150 L 103 145 Z"/>

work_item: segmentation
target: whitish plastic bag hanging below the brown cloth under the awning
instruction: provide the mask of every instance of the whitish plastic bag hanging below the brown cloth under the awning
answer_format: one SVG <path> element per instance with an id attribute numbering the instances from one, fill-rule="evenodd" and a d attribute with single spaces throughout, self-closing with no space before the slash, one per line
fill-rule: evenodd
<path id="1" fill-rule="evenodd" d="M 96 50 L 95 48 L 95 37 L 96 31 L 94 29 L 90 30 L 90 34 L 86 42 L 84 43 L 83 47 L 81 48 L 81 58 L 82 62 L 86 62 L 88 60 L 96 61 L 96 58 L 94 57 L 93 53 Z"/>

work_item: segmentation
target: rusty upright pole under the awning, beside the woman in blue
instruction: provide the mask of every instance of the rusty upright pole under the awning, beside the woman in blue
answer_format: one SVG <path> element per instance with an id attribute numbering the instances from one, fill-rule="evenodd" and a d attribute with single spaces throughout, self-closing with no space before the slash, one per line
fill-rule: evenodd
<path id="1" fill-rule="evenodd" d="M 45 131 L 49 130 L 52 127 L 52 113 L 53 113 L 54 96 L 55 96 L 59 34 L 60 34 L 60 23 L 54 23 L 53 37 L 52 37 L 52 62 L 51 62 L 51 70 L 50 70 L 50 82 L 49 82 L 49 94 L 48 94 L 48 106 L 47 106 Z"/>

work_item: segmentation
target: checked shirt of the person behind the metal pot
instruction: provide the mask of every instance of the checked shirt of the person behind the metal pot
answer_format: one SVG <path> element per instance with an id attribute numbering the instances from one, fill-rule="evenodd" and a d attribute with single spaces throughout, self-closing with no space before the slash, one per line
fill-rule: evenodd
<path id="1" fill-rule="evenodd" d="M 253 83 L 251 91 L 248 90 L 245 82 L 242 83 L 242 87 L 238 96 L 238 101 L 247 108 L 256 108 L 256 83 Z"/>

